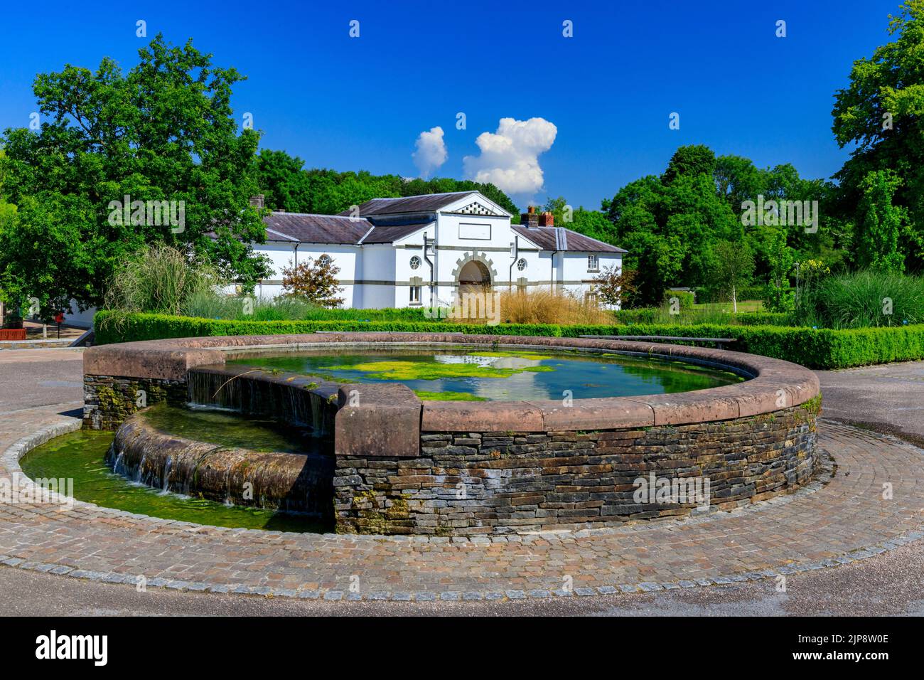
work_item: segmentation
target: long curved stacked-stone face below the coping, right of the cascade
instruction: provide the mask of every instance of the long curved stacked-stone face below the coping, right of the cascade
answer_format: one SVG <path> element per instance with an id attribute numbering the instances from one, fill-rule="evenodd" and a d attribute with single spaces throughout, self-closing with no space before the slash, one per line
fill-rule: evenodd
<path id="1" fill-rule="evenodd" d="M 819 403 L 682 426 L 423 432 L 418 458 L 337 457 L 337 529 L 505 534 L 762 501 L 812 476 Z"/>

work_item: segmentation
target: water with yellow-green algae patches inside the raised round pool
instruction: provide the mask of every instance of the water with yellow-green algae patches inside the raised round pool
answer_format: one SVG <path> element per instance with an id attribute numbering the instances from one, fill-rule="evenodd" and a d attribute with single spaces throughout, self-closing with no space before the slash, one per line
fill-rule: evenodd
<path id="1" fill-rule="evenodd" d="M 400 382 L 421 399 L 524 401 L 629 397 L 709 389 L 739 382 L 734 373 L 614 353 L 401 348 L 248 353 L 229 364 L 338 382 Z"/>

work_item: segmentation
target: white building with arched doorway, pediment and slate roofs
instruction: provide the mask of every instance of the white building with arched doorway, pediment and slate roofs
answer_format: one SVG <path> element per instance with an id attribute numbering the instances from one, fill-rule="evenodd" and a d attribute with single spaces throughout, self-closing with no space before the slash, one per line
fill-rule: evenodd
<path id="1" fill-rule="evenodd" d="M 585 297 L 604 267 L 622 270 L 626 251 L 555 227 L 549 213 L 510 217 L 479 192 L 376 198 L 337 216 L 274 212 L 253 246 L 274 275 L 256 292 L 280 294 L 285 267 L 322 256 L 340 268 L 343 306 L 356 308 L 443 306 L 483 286 Z"/>

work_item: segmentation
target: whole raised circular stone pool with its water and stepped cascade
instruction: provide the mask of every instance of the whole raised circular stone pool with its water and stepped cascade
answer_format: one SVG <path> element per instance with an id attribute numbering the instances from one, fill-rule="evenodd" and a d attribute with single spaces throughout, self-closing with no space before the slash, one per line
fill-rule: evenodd
<path id="1" fill-rule="evenodd" d="M 84 393 L 84 427 L 116 430 L 110 461 L 128 479 L 315 513 L 341 533 L 431 536 L 592 528 L 788 493 L 815 471 L 821 407 L 814 374 L 766 357 L 459 333 L 93 347 Z M 271 441 L 204 421 L 167 431 L 159 407 L 140 409 L 164 402 L 264 423 Z M 282 431 L 300 433 L 294 448 Z"/>

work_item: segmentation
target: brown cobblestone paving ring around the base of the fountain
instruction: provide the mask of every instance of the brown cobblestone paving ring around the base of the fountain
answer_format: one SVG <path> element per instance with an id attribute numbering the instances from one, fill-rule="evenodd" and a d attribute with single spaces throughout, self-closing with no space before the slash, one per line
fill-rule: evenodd
<path id="1" fill-rule="evenodd" d="M 56 425 L 55 425 L 56 424 Z M 73 428 L 48 409 L 10 433 Z M 190 525 L 84 503 L 0 505 L 0 563 L 109 583 L 321 600 L 521 600 L 742 582 L 836 567 L 924 537 L 924 451 L 820 422 L 833 469 L 814 489 L 698 520 L 499 538 L 302 535 Z M 20 446 L 21 446 L 20 442 Z M 883 498 L 883 485 L 892 497 Z"/>

